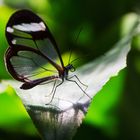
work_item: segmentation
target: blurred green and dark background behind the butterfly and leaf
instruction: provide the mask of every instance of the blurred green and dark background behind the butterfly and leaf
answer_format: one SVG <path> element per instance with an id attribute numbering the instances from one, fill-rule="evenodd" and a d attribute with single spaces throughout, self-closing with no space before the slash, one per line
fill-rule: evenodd
<path id="1" fill-rule="evenodd" d="M 87 54 L 84 64 L 107 52 L 139 14 L 139 0 L 0 0 L 0 80 L 8 47 L 5 25 L 17 9 L 31 9 L 49 26 L 61 53 Z M 76 41 L 76 37 L 82 31 Z M 0 87 L 0 140 L 41 140 L 12 87 Z M 95 96 L 74 140 L 140 140 L 140 37 L 135 37 L 128 67 Z"/>

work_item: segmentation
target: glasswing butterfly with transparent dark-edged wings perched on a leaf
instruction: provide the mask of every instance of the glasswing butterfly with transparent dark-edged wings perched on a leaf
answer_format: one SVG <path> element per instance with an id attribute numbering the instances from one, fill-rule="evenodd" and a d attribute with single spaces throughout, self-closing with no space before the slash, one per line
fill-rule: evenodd
<path id="1" fill-rule="evenodd" d="M 21 89 L 31 89 L 49 82 L 56 83 L 58 79 L 61 79 L 61 82 L 54 84 L 53 93 L 65 79 L 79 86 L 76 81 L 68 78 L 69 71 L 74 71 L 75 68 L 72 64 L 64 66 L 49 28 L 33 12 L 29 10 L 15 12 L 6 25 L 6 38 L 10 46 L 5 54 L 6 66 L 14 79 L 23 82 Z M 78 79 L 76 75 L 74 76 Z M 80 82 L 79 79 L 78 81 Z M 86 94 L 81 87 L 80 89 Z"/>

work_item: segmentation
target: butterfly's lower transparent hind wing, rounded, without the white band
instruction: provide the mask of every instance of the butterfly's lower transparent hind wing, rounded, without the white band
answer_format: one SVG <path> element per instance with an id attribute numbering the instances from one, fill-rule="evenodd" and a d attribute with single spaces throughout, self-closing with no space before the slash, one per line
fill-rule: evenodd
<path id="1" fill-rule="evenodd" d="M 58 75 L 58 71 L 40 53 L 34 50 L 12 49 L 6 52 L 6 64 L 11 75 L 23 82 Z"/>

